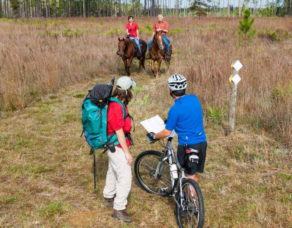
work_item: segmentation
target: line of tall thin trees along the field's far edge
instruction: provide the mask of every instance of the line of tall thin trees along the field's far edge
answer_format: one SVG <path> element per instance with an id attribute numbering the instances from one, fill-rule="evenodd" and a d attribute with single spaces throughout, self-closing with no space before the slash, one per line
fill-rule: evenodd
<path id="1" fill-rule="evenodd" d="M 0 0 L 0 17 L 242 16 L 247 8 L 254 16 L 292 16 L 291 1 Z"/>

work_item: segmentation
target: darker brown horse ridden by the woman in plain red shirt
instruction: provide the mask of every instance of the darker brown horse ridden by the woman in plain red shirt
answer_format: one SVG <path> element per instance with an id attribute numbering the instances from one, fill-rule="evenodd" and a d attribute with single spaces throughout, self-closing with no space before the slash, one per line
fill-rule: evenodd
<path id="1" fill-rule="evenodd" d="M 128 76 L 130 76 L 130 65 L 132 63 L 132 60 L 137 57 L 137 59 L 140 61 L 139 62 L 139 70 L 138 70 L 138 73 L 140 73 L 140 68 L 141 68 L 141 65 L 143 67 L 143 69 L 145 70 L 145 66 L 144 66 L 144 61 L 145 61 L 145 53 L 146 53 L 146 50 L 147 50 L 147 43 L 142 40 L 143 44 L 141 46 L 141 56 L 140 57 L 137 57 L 137 53 L 138 53 L 138 50 L 136 50 L 136 47 L 134 46 L 132 40 L 130 38 L 127 38 L 127 39 L 120 39 L 119 38 L 119 51 L 117 52 L 117 54 L 122 57 L 122 60 L 124 61 L 124 64 L 125 64 L 125 69 L 126 69 L 126 74 Z"/>

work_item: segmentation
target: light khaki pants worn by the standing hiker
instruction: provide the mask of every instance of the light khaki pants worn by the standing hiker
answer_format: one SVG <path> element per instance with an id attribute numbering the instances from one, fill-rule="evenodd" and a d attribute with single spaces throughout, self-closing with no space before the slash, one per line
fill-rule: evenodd
<path id="1" fill-rule="evenodd" d="M 108 150 L 109 169 L 106 173 L 106 186 L 103 189 L 103 196 L 113 198 L 113 209 L 126 209 L 127 197 L 129 195 L 132 184 L 131 166 L 127 165 L 127 159 L 122 148 L 115 147 L 116 152 L 112 153 Z"/>

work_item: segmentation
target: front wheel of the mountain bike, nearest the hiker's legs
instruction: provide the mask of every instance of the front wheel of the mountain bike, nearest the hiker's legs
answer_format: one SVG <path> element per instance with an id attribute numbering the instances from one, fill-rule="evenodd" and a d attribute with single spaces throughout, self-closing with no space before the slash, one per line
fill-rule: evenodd
<path id="1" fill-rule="evenodd" d="M 172 188 L 169 164 L 164 161 L 159 168 L 157 177 L 154 177 L 161 153 L 155 150 L 142 152 L 136 158 L 134 171 L 137 181 L 141 187 L 149 193 L 165 196 L 165 193 L 158 192 L 164 188 L 169 191 Z"/>

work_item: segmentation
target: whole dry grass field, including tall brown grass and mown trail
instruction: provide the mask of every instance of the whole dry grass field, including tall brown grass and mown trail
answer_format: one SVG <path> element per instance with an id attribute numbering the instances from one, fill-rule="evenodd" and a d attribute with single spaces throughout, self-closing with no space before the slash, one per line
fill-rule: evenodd
<path id="1" fill-rule="evenodd" d="M 138 87 L 133 157 L 148 149 L 139 122 L 173 104 L 172 73 L 202 103 L 208 149 L 200 187 L 205 227 L 292 227 L 292 19 L 256 18 L 256 36 L 238 42 L 237 18 L 166 18 L 173 56 L 160 78 L 130 68 Z M 115 54 L 126 19 L 0 19 L 0 227 L 176 227 L 172 199 L 135 178 L 130 225 L 102 206 L 107 157 L 92 157 L 81 133 L 81 104 L 96 83 L 124 74 Z M 148 40 L 155 18 L 137 18 Z M 226 135 L 231 62 L 239 71 L 235 134 Z M 134 174 L 134 173 L 133 173 Z"/>

